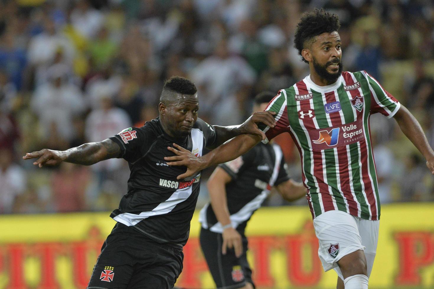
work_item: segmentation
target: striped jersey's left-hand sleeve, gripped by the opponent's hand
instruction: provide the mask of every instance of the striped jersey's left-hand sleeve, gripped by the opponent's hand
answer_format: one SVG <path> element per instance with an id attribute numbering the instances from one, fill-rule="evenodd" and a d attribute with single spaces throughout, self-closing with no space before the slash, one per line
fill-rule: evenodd
<path id="1" fill-rule="evenodd" d="M 274 120 L 276 121 L 275 127 L 268 127 L 263 123 L 258 125 L 259 129 L 265 133 L 266 139 L 263 140 L 263 143 L 268 143 L 275 136 L 280 133 L 287 132 L 289 130 L 289 120 L 288 120 L 288 108 L 286 103 L 286 92 L 279 91 L 268 104 L 267 108 L 264 111 L 274 111 L 276 114 L 274 115 Z"/>

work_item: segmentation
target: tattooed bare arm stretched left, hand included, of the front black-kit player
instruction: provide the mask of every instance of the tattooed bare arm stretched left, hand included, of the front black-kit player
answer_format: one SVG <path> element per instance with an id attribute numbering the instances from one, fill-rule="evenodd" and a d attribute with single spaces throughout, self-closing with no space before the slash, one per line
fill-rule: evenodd
<path id="1" fill-rule="evenodd" d="M 105 159 L 112 159 L 121 153 L 121 148 L 110 139 L 99 143 L 85 143 L 64 151 L 43 149 L 39 152 L 26 153 L 23 159 L 37 159 L 33 165 L 53 166 L 60 162 L 72 162 L 79 165 L 90 166 Z"/>

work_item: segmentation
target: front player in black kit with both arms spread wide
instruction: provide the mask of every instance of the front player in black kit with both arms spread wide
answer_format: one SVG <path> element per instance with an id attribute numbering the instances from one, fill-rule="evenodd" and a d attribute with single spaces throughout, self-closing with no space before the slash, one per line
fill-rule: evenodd
<path id="1" fill-rule="evenodd" d="M 34 165 L 62 161 L 81 165 L 123 158 L 131 173 L 128 192 L 110 215 L 117 223 L 105 240 L 88 288 L 172 288 L 182 271 L 182 248 L 199 194 L 201 172 L 177 180 L 185 167 L 164 161 L 169 147 L 202 156 L 241 133 L 261 134 L 256 123 L 274 125 L 270 113 L 256 113 L 240 126 L 210 126 L 197 118 L 195 85 L 181 77 L 164 83 L 160 116 L 143 127 L 123 130 L 99 143 L 85 143 L 66 151 L 43 149 L 26 153 Z"/>

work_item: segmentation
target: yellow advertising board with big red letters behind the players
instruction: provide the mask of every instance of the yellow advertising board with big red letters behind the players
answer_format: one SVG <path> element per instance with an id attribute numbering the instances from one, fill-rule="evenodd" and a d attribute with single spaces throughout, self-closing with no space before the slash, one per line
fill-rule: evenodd
<path id="1" fill-rule="evenodd" d="M 434 204 L 384 205 L 381 213 L 370 288 L 434 288 Z M 197 217 L 177 286 L 213 288 Z M 85 288 L 114 224 L 109 213 L 1 216 L 0 288 Z M 257 288 L 335 288 L 335 272 L 324 273 L 319 262 L 307 207 L 261 208 L 246 234 Z"/>

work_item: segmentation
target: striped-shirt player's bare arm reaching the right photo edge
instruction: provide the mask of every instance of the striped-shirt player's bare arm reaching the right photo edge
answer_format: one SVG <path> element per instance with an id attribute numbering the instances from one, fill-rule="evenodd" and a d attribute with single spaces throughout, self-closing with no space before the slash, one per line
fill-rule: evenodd
<path id="1" fill-rule="evenodd" d="M 393 116 L 401 128 L 405 136 L 416 146 L 416 148 L 421 152 L 421 154 L 427 160 L 427 167 L 430 169 L 431 173 L 434 175 L 434 152 L 428 143 L 427 137 L 422 130 L 421 125 L 418 120 L 413 116 L 413 114 L 408 111 L 406 107 L 401 104 L 401 108 Z"/>

